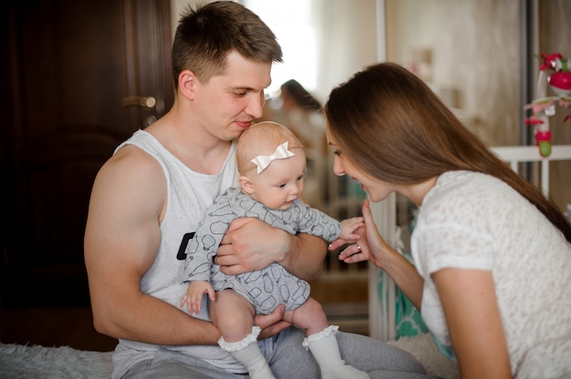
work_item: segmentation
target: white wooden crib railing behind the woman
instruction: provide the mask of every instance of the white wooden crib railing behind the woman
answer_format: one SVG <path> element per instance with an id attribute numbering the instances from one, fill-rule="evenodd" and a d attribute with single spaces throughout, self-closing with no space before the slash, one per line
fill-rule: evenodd
<path id="1" fill-rule="evenodd" d="M 522 173 L 523 163 L 536 162 L 532 168 L 534 178 L 532 181 L 538 185 L 545 194 L 549 193 L 549 162 L 554 160 L 571 161 L 571 145 L 555 145 L 549 157 L 541 157 L 535 146 L 493 147 L 493 152 L 501 159 L 509 162 L 512 169 Z M 571 172 L 568 173 L 571 175 Z M 396 196 L 372 203 L 373 218 L 377 223 L 380 234 L 392 246 L 398 243 L 397 236 L 397 207 Z M 378 268 L 369 264 L 369 335 L 381 341 L 393 340 L 395 331 L 395 284 L 388 275 L 379 275 Z M 379 286 L 380 285 L 380 286 Z M 379 301 L 379 287 L 383 289 L 383 301 Z"/>

